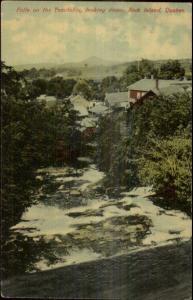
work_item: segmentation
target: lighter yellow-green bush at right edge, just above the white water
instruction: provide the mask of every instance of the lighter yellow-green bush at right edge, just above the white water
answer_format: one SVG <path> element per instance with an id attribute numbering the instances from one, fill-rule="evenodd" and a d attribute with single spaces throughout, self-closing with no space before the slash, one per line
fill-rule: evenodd
<path id="1" fill-rule="evenodd" d="M 191 139 L 177 136 L 154 140 L 139 161 L 139 177 L 152 185 L 162 201 L 188 214 L 191 212 Z"/>

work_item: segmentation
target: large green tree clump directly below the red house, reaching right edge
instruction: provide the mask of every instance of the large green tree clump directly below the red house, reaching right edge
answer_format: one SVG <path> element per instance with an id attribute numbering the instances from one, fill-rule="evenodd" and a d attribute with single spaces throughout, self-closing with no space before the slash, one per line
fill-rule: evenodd
<path id="1" fill-rule="evenodd" d="M 141 185 L 190 213 L 191 105 L 189 93 L 146 100 L 130 111 L 128 156 Z"/>

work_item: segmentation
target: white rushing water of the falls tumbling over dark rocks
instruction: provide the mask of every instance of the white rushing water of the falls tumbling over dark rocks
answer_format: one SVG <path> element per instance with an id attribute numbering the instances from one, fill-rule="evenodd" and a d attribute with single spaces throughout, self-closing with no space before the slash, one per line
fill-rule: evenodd
<path id="1" fill-rule="evenodd" d="M 189 240 L 191 219 L 165 210 L 148 197 L 149 187 L 117 199 L 100 193 L 104 174 L 87 166 L 38 171 L 42 188 L 37 203 L 12 227 L 18 273 L 31 273 L 149 247 Z"/>

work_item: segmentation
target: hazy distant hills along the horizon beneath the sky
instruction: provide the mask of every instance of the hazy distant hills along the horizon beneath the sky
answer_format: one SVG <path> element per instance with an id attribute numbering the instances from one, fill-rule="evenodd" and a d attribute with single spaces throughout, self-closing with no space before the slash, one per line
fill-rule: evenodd
<path id="1" fill-rule="evenodd" d="M 185 68 L 186 72 L 190 71 L 190 64 L 192 59 L 178 59 L 181 65 Z M 155 67 L 158 68 L 161 64 L 168 61 L 165 60 L 152 60 Z M 39 69 L 51 69 L 56 70 L 56 75 L 62 76 L 64 78 L 85 78 L 85 79 L 102 79 L 106 76 L 116 76 L 121 77 L 124 70 L 131 64 L 136 63 L 137 61 L 131 62 L 115 62 L 108 61 L 102 58 L 92 56 L 81 62 L 71 62 L 71 63 L 40 63 L 40 64 L 25 64 L 14 66 L 17 71 L 22 71 L 24 69 L 36 68 Z"/>

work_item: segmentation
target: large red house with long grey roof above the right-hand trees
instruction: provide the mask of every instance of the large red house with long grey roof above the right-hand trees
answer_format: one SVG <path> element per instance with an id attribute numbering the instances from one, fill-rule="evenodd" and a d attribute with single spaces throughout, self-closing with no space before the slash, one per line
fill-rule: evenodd
<path id="1" fill-rule="evenodd" d="M 192 86 L 190 80 L 141 79 L 128 87 L 130 103 L 141 102 L 150 96 L 172 95 L 184 92 Z"/>

